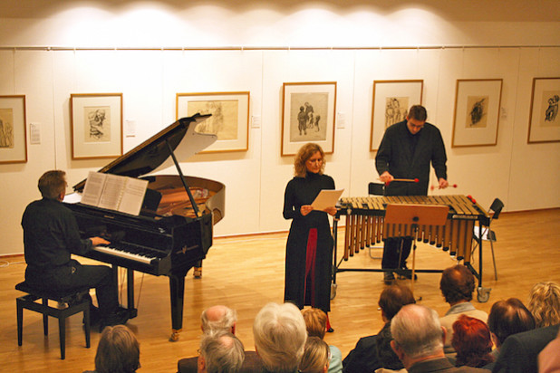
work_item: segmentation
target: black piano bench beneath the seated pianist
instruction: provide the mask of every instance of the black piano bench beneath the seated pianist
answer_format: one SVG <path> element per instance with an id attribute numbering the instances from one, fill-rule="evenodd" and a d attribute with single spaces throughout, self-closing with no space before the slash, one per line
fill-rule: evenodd
<path id="1" fill-rule="evenodd" d="M 85 329 L 85 347 L 90 348 L 90 292 L 89 288 L 72 291 L 53 291 L 36 289 L 26 282 L 15 285 L 15 289 L 26 292 L 27 295 L 18 297 L 15 302 L 17 306 L 17 344 L 22 345 L 24 333 L 24 309 L 43 313 L 43 332 L 49 334 L 49 320 L 52 316 L 58 319 L 58 332 L 61 344 L 61 359 L 66 358 L 66 318 L 83 311 L 83 325 Z M 38 302 L 41 299 L 43 302 Z M 59 304 L 67 303 L 68 307 L 63 309 L 49 306 L 49 300 L 57 301 Z"/>

